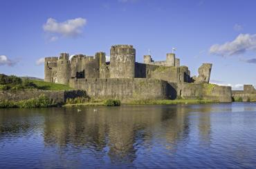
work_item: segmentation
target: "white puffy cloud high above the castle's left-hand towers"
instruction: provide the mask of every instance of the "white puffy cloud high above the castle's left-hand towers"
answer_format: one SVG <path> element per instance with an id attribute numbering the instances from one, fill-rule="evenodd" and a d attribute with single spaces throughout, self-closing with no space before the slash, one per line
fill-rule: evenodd
<path id="1" fill-rule="evenodd" d="M 58 22 L 53 18 L 44 23 L 44 31 L 51 34 L 50 41 L 56 41 L 59 36 L 78 37 L 82 34 L 82 28 L 86 25 L 86 19 L 76 18 L 64 22 Z"/>

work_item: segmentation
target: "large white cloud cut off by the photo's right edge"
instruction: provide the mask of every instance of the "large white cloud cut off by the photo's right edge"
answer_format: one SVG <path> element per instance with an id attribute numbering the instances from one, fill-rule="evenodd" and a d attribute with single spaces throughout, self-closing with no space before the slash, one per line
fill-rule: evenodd
<path id="1" fill-rule="evenodd" d="M 215 44 L 210 47 L 210 54 L 217 54 L 223 57 L 241 54 L 256 48 L 256 34 L 239 34 L 233 41 L 224 44 Z"/>

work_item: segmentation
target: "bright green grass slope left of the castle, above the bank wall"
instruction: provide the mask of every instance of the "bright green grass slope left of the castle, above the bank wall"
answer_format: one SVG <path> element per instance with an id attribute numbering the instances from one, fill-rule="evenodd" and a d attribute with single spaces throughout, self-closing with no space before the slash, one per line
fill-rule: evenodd
<path id="1" fill-rule="evenodd" d="M 57 83 L 50 83 L 46 81 L 39 81 L 39 80 L 28 80 L 35 84 L 35 88 L 41 90 L 71 90 L 72 88 L 64 85 L 64 84 L 57 84 Z"/>

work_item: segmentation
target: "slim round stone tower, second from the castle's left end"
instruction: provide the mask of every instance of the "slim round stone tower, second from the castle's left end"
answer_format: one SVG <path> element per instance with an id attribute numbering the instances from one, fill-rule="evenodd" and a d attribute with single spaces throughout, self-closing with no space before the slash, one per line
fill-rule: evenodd
<path id="1" fill-rule="evenodd" d="M 61 53 L 60 58 L 57 61 L 56 83 L 68 84 L 70 77 L 71 77 L 71 64 L 69 61 L 69 55 L 67 53 Z"/>

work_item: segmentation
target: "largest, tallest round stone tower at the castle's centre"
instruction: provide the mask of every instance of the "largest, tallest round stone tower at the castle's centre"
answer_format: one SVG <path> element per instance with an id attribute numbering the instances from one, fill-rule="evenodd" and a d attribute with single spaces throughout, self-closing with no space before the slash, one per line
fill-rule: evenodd
<path id="1" fill-rule="evenodd" d="M 135 49 L 130 45 L 111 46 L 110 78 L 135 77 Z"/>

